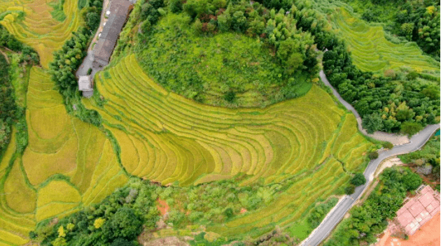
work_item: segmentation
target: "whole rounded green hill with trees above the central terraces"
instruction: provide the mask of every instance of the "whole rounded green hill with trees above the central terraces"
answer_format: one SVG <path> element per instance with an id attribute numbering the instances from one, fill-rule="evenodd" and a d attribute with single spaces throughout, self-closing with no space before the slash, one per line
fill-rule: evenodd
<path id="1" fill-rule="evenodd" d="M 302 96 L 318 81 L 314 40 L 283 10 L 248 1 L 174 4 L 141 3 L 143 34 L 134 48 L 166 89 L 215 106 L 264 107 Z M 160 10 L 169 13 L 160 17 Z"/>

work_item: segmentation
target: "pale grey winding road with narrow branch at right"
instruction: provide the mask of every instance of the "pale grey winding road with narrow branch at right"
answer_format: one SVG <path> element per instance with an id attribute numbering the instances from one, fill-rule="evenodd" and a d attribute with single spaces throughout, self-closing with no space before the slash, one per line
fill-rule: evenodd
<path id="1" fill-rule="evenodd" d="M 339 96 L 338 92 L 330 85 L 328 79 L 325 77 L 325 73 L 320 71 L 321 80 L 328 85 L 332 89 L 332 93 L 337 97 L 337 99 L 346 107 L 348 110 L 351 110 L 354 115 L 356 115 L 357 119 L 360 119 L 360 115 L 358 115 L 357 111 L 346 101 Z M 361 122 L 358 122 L 358 128 L 360 131 L 365 133 L 364 129 L 361 127 Z M 361 194 L 365 191 L 366 187 L 369 186 L 370 182 L 373 180 L 373 175 L 381 161 L 387 159 L 388 157 L 393 157 L 398 154 L 406 154 L 409 152 L 414 152 L 415 150 L 419 150 L 423 145 L 427 142 L 427 140 L 432 136 L 432 134 L 440 128 L 440 124 L 432 124 L 426 126 L 425 129 L 421 130 L 419 133 L 416 133 L 410 139 L 409 143 L 404 145 L 395 145 L 391 150 L 386 150 L 379 153 L 379 157 L 370 161 L 363 173 L 367 180 L 366 184 L 363 184 L 359 187 L 356 187 L 356 191 L 351 194 L 351 196 L 344 196 L 343 199 L 335 205 L 335 207 L 328 213 L 328 215 L 323 219 L 323 222 L 309 235 L 309 238 L 304 240 L 301 245 L 302 246 L 316 246 L 319 245 L 325 238 L 327 238 L 332 231 L 332 229 L 337 226 L 337 224 L 343 219 L 346 212 L 352 207 L 352 205 L 360 198 Z M 384 133 L 388 138 L 393 138 L 392 134 Z M 368 135 L 378 139 L 378 136 Z M 395 136 L 396 137 L 396 136 Z M 399 136 L 398 136 L 399 137 Z M 383 139 L 379 139 L 383 140 Z M 390 141 L 393 143 L 393 141 Z"/>

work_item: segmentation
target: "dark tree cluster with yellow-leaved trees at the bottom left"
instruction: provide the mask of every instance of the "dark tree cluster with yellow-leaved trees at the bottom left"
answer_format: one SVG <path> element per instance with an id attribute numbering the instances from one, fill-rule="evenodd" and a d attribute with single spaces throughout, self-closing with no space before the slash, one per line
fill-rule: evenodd
<path id="1" fill-rule="evenodd" d="M 87 207 L 57 224 L 38 224 L 29 236 L 41 245 L 138 245 L 143 226 L 154 229 L 159 219 L 155 185 L 134 179 L 99 204 Z"/>

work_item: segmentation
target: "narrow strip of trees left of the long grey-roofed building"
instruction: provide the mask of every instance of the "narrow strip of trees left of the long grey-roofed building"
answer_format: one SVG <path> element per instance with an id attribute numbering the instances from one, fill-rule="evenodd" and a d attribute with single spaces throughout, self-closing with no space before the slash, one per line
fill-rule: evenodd
<path id="1" fill-rule="evenodd" d="M 84 122 L 99 126 L 101 117 L 95 110 L 87 110 L 80 103 L 77 78 L 75 72 L 87 55 L 87 47 L 99 25 L 99 15 L 102 10 L 102 1 L 94 1 L 94 6 L 87 6 L 81 10 L 85 27 L 72 33 L 72 37 L 64 43 L 61 50 L 54 52 L 54 60 L 49 64 L 49 73 L 55 81 L 57 89 L 63 96 L 66 110 L 72 112 L 73 105 L 77 108 L 77 116 Z"/>

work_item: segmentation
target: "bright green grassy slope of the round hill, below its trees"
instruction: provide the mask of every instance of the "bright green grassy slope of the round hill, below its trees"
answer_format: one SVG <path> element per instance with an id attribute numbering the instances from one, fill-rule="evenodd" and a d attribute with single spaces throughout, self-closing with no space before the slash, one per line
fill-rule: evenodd
<path id="1" fill-rule="evenodd" d="M 187 20 L 188 21 L 188 20 Z M 162 18 L 143 42 L 141 67 L 167 90 L 202 103 L 264 107 L 306 94 L 309 75 L 289 80 L 272 48 L 238 33 L 195 34 L 183 15 Z M 283 87 L 294 87 L 286 95 Z"/>

